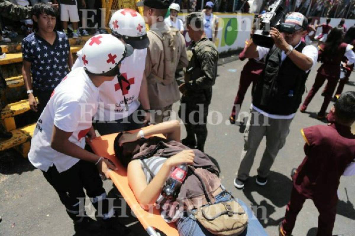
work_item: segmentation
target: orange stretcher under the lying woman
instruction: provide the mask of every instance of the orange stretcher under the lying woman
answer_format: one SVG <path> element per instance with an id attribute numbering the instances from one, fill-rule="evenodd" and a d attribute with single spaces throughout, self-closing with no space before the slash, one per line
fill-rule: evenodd
<path id="1" fill-rule="evenodd" d="M 88 142 L 95 154 L 106 157 L 113 161 L 118 168 L 117 171 L 110 171 L 109 175 L 121 195 L 125 198 L 127 204 L 130 206 L 137 219 L 142 224 L 143 228 L 147 231 L 149 236 L 159 236 L 156 230 L 163 232 L 167 236 L 179 236 L 178 230 L 174 223 L 166 223 L 160 216 L 160 211 L 153 207 L 153 212 L 145 211 L 137 202 L 127 179 L 127 169 L 121 165 L 116 159 L 113 149 L 113 143 L 117 133 L 108 134 L 97 137 Z M 164 137 L 164 136 L 162 136 Z"/>

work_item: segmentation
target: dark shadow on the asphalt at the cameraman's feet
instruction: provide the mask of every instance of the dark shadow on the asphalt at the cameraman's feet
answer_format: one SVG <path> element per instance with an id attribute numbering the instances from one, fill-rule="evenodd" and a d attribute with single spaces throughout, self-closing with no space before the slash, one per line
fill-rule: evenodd
<path id="1" fill-rule="evenodd" d="M 269 175 L 266 186 L 257 185 L 255 180 L 256 176 L 249 178 L 242 191 L 250 201 L 251 206 L 254 206 L 254 209 L 256 209 L 255 215 L 263 227 L 277 226 L 283 220 L 283 217 L 273 219 L 270 215 L 276 212 L 275 206 L 281 208 L 287 205 L 290 199 L 292 182 L 289 177 L 273 171 Z M 268 203 L 265 199 L 257 203 L 252 196 L 253 192 L 257 192 L 263 198 L 270 200 L 272 204 Z"/>

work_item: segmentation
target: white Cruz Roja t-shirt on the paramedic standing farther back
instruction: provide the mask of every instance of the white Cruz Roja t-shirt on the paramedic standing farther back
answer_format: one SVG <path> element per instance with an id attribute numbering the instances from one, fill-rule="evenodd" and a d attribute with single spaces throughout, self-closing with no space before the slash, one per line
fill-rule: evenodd
<path id="1" fill-rule="evenodd" d="M 82 50 L 77 52 L 73 68 L 83 67 Z M 112 81 L 106 81 L 100 86 L 99 108 L 94 115 L 95 120 L 114 121 L 131 115 L 140 105 L 138 101 L 141 89 L 144 68 L 146 64 L 147 49 L 133 51 L 133 54 L 126 57 L 121 64 L 120 73 L 130 82 L 130 89 L 127 90 L 126 82 L 122 81 L 123 90 L 120 88 L 117 77 Z M 125 93 L 128 104 L 128 111 L 125 109 L 123 93 Z"/>

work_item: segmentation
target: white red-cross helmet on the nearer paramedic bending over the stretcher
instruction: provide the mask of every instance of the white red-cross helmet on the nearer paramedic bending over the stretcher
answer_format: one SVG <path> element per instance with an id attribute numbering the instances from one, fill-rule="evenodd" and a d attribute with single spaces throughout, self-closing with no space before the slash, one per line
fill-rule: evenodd
<path id="1" fill-rule="evenodd" d="M 133 48 L 110 34 L 98 34 L 83 47 L 84 68 L 95 75 L 116 75 L 118 65 L 132 54 Z M 112 73 L 111 73 L 112 72 Z M 119 73 L 117 73 L 119 74 Z"/>

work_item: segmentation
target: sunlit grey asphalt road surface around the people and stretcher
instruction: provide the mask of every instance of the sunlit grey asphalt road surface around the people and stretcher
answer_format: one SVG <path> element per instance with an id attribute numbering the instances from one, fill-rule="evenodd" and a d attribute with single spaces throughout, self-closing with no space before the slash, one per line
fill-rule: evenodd
<path id="1" fill-rule="evenodd" d="M 228 60 L 228 58 L 226 59 Z M 218 77 L 213 87 L 213 98 L 210 112 L 218 111 L 222 115 L 222 123 L 216 125 L 218 116 L 211 114 L 211 123 L 208 124 L 208 138 L 205 151 L 214 157 L 222 171 L 221 177 L 225 187 L 235 197 L 241 198 L 247 204 L 257 206 L 257 217 L 270 236 L 277 236 L 277 225 L 283 219 L 286 204 L 289 201 L 291 180 L 290 171 L 297 167 L 304 158 L 304 140 L 301 137 L 302 127 L 322 124 L 315 119 L 323 97 L 320 93 L 308 107 L 309 113 L 297 113 L 292 124 L 286 144 L 280 150 L 272 167 L 272 173 L 266 186 L 255 184 L 256 169 L 265 148 L 262 141 L 255 158 L 255 165 L 251 170 L 252 178 L 247 182 L 246 188 L 239 191 L 233 186 L 233 179 L 240 163 L 240 152 L 244 145 L 243 126 L 230 125 L 228 117 L 237 92 L 240 71 L 245 62 L 233 61 L 218 67 Z M 315 79 L 316 69 L 311 71 L 307 81 L 309 91 Z M 353 73 L 354 75 L 354 73 Z M 354 76 L 350 80 L 354 81 Z M 345 91 L 354 90 L 354 83 L 345 86 Z M 304 95 L 305 96 L 305 95 Z M 248 90 L 242 111 L 247 112 L 251 103 L 250 89 Z M 179 104 L 174 104 L 177 111 Z M 330 109 L 330 107 L 329 107 Z M 185 137 L 182 127 L 182 138 Z M 339 186 L 338 214 L 333 234 L 354 235 L 355 232 L 355 188 L 354 178 L 343 177 Z M 113 197 L 112 183 L 105 180 L 105 189 Z M 347 192 L 347 195 L 346 195 Z M 35 169 L 27 159 L 18 156 L 9 157 L 0 162 L 0 235 L 75 235 L 70 218 L 61 205 L 54 189 L 45 181 L 42 173 Z M 116 200 L 119 206 L 122 200 Z M 92 208 L 88 204 L 88 213 Z M 127 215 L 130 210 L 124 209 Z M 146 235 L 139 222 L 134 217 L 121 218 L 124 224 L 130 226 L 136 235 Z M 315 236 L 317 231 L 318 212 L 312 201 L 306 201 L 300 212 L 294 236 Z M 103 234 L 110 235 L 110 234 Z M 112 235 L 122 235 L 112 233 Z"/>

